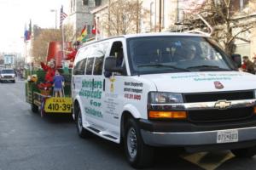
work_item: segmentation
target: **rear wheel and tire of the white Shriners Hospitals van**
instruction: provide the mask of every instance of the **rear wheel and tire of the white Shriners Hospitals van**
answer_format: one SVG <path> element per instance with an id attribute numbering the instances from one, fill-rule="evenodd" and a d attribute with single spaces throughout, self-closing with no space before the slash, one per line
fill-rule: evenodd
<path id="1" fill-rule="evenodd" d="M 78 133 L 79 133 L 79 137 L 81 137 L 83 139 L 87 139 L 91 136 L 91 133 L 83 127 L 82 113 L 81 113 L 81 110 L 80 110 L 79 106 L 77 106 L 75 111 L 76 111 L 76 113 L 75 113 L 75 116 L 76 116 L 75 122 L 76 122 L 76 127 L 77 127 L 77 130 L 78 130 Z"/>

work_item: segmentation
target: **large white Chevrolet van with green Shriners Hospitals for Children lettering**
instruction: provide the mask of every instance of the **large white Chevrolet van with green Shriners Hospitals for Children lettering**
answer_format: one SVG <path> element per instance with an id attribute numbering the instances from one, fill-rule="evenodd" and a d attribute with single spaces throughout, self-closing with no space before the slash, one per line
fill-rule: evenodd
<path id="1" fill-rule="evenodd" d="M 237 65 L 236 65 L 237 64 Z M 211 37 L 125 35 L 90 42 L 73 66 L 73 116 L 81 137 L 124 141 L 133 167 L 154 146 L 256 153 L 256 77 L 238 71 Z"/>

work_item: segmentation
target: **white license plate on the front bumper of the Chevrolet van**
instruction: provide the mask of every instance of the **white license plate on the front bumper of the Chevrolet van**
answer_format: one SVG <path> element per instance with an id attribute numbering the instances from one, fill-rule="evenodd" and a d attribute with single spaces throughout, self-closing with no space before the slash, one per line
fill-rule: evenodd
<path id="1" fill-rule="evenodd" d="M 217 143 L 230 143 L 238 141 L 238 130 L 223 130 L 217 133 Z"/>

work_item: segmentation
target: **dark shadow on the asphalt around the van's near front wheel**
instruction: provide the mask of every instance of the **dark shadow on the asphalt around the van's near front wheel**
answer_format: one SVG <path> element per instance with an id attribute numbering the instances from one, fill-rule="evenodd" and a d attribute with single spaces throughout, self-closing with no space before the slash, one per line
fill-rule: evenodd
<path id="1" fill-rule="evenodd" d="M 90 139 L 84 139 L 84 141 L 87 144 L 90 143 L 90 147 L 100 150 L 102 156 L 106 155 L 111 160 L 117 159 L 119 163 L 122 162 L 124 165 L 123 169 L 133 169 L 125 160 L 125 149 L 122 144 L 115 144 L 96 135 L 92 135 Z M 155 148 L 154 164 L 146 169 L 201 170 L 201 167 L 180 157 L 184 152 L 183 148 Z"/>

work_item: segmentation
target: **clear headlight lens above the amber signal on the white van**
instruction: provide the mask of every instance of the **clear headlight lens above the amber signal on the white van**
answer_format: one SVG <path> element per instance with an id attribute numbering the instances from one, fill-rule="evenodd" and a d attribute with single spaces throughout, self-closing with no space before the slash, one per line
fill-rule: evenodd
<path id="1" fill-rule="evenodd" d="M 183 103 L 183 95 L 170 92 L 149 92 L 149 104 L 176 104 Z"/>

